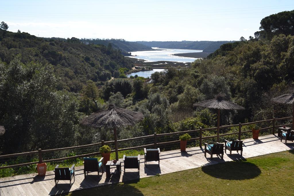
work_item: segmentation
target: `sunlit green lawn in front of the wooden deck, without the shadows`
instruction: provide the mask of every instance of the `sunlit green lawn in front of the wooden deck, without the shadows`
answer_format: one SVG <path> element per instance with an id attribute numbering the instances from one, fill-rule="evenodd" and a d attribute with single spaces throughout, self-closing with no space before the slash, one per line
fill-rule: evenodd
<path id="1" fill-rule="evenodd" d="M 294 195 L 293 163 L 290 150 L 67 195 Z"/>

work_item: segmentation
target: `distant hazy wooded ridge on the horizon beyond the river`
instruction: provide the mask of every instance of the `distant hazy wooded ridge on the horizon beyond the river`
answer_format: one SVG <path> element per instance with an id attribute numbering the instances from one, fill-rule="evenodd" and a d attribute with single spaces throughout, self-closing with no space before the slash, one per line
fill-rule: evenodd
<path id="1" fill-rule="evenodd" d="M 137 41 L 150 47 L 203 50 L 203 52 L 214 52 L 224 43 L 234 41 Z"/>

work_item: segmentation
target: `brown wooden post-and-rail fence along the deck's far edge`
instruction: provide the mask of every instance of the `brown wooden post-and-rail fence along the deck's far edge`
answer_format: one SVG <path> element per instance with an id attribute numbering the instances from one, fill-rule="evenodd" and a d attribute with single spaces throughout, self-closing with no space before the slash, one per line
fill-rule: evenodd
<path id="1" fill-rule="evenodd" d="M 171 144 L 179 143 L 180 140 L 174 139 L 173 141 L 159 142 L 158 143 L 158 137 L 175 136 L 175 135 L 178 135 L 178 134 L 195 133 L 195 132 L 199 132 L 199 137 L 191 138 L 190 141 L 199 140 L 199 145 L 200 146 L 202 146 L 202 140 L 210 139 L 210 138 L 217 138 L 217 141 L 219 141 L 220 137 L 228 136 L 228 135 L 237 135 L 238 134 L 238 139 L 240 140 L 242 133 L 249 133 L 249 132 L 252 131 L 252 130 L 241 131 L 242 126 L 250 125 L 250 124 L 257 124 L 257 123 L 270 123 L 271 122 L 272 126 L 261 128 L 260 131 L 262 132 L 262 131 L 265 131 L 265 130 L 268 130 L 268 129 L 272 129 L 272 134 L 275 134 L 275 128 L 278 128 L 280 126 L 292 125 L 292 123 L 291 124 L 285 124 L 285 125 L 276 125 L 277 120 L 288 120 L 288 119 L 292 119 L 292 117 L 273 118 L 273 119 L 270 119 L 270 120 L 260 120 L 260 121 L 255 121 L 255 122 L 251 122 L 251 123 L 239 123 L 239 124 L 236 124 L 236 125 L 221 126 L 219 128 L 219 129 L 226 129 L 226 128 L 238 127 L 238 132 L 235 132 L 235 133 L 219 134 L 219 130 L 217 130 L 216 127 L 204 128 L 204 129 L 200 128 L 200 129 L 197 129 L 197 130 L 180 131 L 180 132 L 174 132 L 174 133 L 162 133 L 162 134 L 156 134 L 155 133 L 153 135 L 146 135 L 146 136 L 137 137 L 137 138 L 129 138 L 129 139 L 124 139 L 124 140 L 118 140 L 118 144 L 123 143 L 123 142 L 130 142 L 130 141 L 133 141 L 133 140 L 142 140 L 142 139 L 146 139 L 146 138 L 152 138 L 152 140 L 153 140 L 152 143 L 147 144 L 147 145 L 139 145 L 139 146 L 128 147 L 128 148 L 119 148 L 118 151 L 133 150 L 133 149 L 143 149 L 143 148 L 147 148 L 147 147 L 155 147 L 155 148 L 157 148 L 157 146 L 160 146 L 160 145 L 171 145 Z M 211 131 L 211 130 L 217 130 L 217 135 L 202 137 L 203 131 Z M 39 160 L 35 161 L 35 162 L 28 162 L 28 163 L 21 163 L 21 164 L 16 164 L 16 165 L 2 166 L 2 167 L 0 167 L 0 169 L 12 168 L 12 167 L 21 167 L 21 166 L 32 165 L 32 164 L 36 164 L 36 163 L 57 162 L 57 161 L 76 159 L 76 158 L 81 158 L 81 157 L 86 157 L 86 156 L 100 155 L 100 152 L 97 151 L 97 152 L 94 152 L 94 153 L 75 155 L 75 156 L 69 156 L 69 157 L 62 157 L 62 158 L 55 158 L 55 159 L 53 158 L 53 159 L 48 159 L 48 160 L 43 160 L 43 158 L 42 158 L 42 155 L 44 153 L 58 152 L 58 151 L 62 151 L 62 150 L 73 150 L 73 149 L 87 148 L 87 147 L 93 147 L 93 146 L 97 146 L 97 149 L 98 149 L 98 147 L 100 147 L 102 145 L 113 144 L 113 143 L 114 143 L 114 141 L 104 141 L 104 140 L 102 140 L 99 143 L 88 144 L 88 145 L 72 146 L 72 147 L 66 147 L 66 148 L 55 148 L 55 149 L 49 149 L 49 150 L 38 149 L 38 151 L 32 151 L 32 152 L 16 153 L 16 154 L 10 154 L 10 155 L 1 155 L 0 159 L 19 157 L 19 156 L 25 156 L 25 155 L 35 155 L 35 156 L 37 155 Z M 111 152 L 114 152 L 114 151 L 115 150 L 111 150 Z"/>

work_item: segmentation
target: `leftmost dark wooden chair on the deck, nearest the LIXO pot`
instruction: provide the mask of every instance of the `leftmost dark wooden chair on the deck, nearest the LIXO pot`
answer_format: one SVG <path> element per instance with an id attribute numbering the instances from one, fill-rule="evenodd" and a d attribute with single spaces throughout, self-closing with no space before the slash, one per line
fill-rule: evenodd
<path id="1" fill-rule="evenodd" d="M 69 180 L 70 186 L 72 185 L 71 180 L 73 178 L 74 178 L 74 181 L 75 181 L 74 165 L 72 165 L 71 168 L 69 168 L 69 167 L 59 167 L 59 165 L 56 165 L 56 167 L 54 168 L 54 173 L 55 173 L 55 177 L 54 177 L 55 187 L 57 187 L 57 183 L 59 182 L 59 180 Z M 73 182 L 73 184 L 74 184 L 74 182 Z"/>

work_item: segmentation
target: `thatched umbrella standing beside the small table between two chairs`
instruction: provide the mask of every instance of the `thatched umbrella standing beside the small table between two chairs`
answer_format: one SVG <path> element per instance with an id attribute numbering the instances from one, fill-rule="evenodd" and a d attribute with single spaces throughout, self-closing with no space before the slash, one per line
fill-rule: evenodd
<path id="1" fill-rule="evenodd" d="M 123 108 L 118 108 L 114 105 L 109 105 L 108 109 L 95 112 L 81 120 L 82 125 L 93 128 L 113 128 L 114 129 L 114 144 L 115 156 L 118 160 L 118 147 L 117 147 L 117 132 L 116 128 L 135 125 L 144 116 L 141 112 L 134 112 Z"/>

